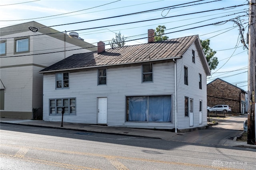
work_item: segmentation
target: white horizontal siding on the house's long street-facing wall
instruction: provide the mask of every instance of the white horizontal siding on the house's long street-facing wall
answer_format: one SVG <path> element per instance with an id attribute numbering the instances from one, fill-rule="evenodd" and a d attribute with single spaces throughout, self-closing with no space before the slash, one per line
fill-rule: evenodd
<path id="1" fill-rule="evenodd" d="M 97 98 L 108 98 L 108 126 L 174 128 L 174 63 L 154 63 L 153 82 L 142 83 L 142 66 L 107 68 L 107 84 L 97 86 L 97 70 L 70 72 L 70 88 L 55 90 L 55 74 L 44 74 L 44 120 L 49 116 L 49 99 L 76 98 L 76 115 L 64 116 L 64 122 L 97 123 Z M 172 95 L 172 123 L 126 122 L 126 96 Z"/>

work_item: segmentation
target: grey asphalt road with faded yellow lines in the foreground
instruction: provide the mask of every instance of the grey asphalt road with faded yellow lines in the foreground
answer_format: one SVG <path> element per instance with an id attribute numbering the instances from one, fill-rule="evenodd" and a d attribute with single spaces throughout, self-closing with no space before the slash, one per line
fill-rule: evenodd
<path id="1" fill-rule="evenodd" d="M 256 169 L 256 149 L 1 124 L 3 170 Z"/>

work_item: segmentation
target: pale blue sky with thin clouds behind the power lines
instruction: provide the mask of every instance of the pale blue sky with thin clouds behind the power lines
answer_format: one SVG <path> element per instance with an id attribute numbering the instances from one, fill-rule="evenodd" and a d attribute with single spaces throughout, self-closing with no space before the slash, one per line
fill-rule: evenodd
<path id="1" fill-rule="evenodd" d="M 135 45 L 147 43 L 148 29 L 164 25 L 169 39 L 199 35 L 210 40 L 219 64 L 207 83 L 220 78 L 247 91 L 248 44 L 241 43 L 247 40 L 247 4 L 247 0 L 1 0 L 0 28 L 37 21 L 61 32 L 75 31 L 94 45 L 99 41 L 107 45 L 119 32 L 126 37 L 125 45 Z"/>

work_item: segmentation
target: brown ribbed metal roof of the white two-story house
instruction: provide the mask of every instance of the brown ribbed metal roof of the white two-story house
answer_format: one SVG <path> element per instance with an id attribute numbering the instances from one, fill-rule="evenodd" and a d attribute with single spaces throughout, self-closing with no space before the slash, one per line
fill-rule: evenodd
<path id="1" fill-rule="evenodd" d="M 100 54 L 98 54 L 97 51 L 74 54 L 58 63 L 44 68 L 40 73 L 143 63 L 148 61 L 172 60 L 182 57 L 194 41 L 200 41 L 198 35 L 106 49 Z M 200 44 L 200 42 L 196 43 L 196 45 L 198 44 Z M 202 47 L 200 48 L 199 53 L 200 51 L 202 52 Z M 205 58 L 204 54 L 201 56 Z M 206 61 L 206 59 L 204 60 Z"/>

